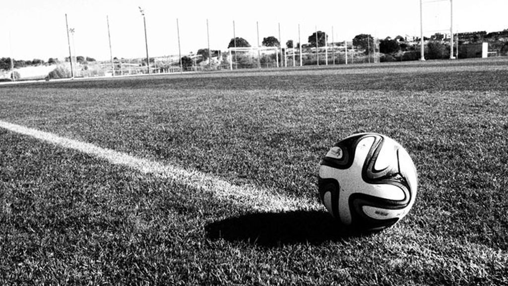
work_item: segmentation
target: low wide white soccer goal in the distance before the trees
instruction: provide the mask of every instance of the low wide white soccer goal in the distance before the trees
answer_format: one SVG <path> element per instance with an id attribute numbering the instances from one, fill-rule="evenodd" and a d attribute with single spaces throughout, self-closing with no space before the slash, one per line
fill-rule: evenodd
<path id="1" fill-rule="evenodd" d="M 259 68 L 263 65 L 266 67 L 272 65 L 279 67 L 278 47 L 231 47 L 228 48 L 228 52 L 230 70 L 233 70 L 233 66 L 236 69 L 238 69 L 238 66 L 241 68 L 254 68 L 255 65 L 258 65 Z M 272 61 L 273 56 L 275 56 L 275 59 Z"/>

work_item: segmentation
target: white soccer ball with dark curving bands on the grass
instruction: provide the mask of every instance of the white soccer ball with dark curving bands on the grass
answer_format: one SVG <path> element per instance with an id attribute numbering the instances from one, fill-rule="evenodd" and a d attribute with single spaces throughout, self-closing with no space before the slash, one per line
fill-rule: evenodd
<path id="1" fill-rule="evenodd" d="M 354 134 L 321 161 L 319 194 L 340 224 L 362 231 L 389 227 L 415 203 L 417 173 L 407 151 L 381 134 Z"/>

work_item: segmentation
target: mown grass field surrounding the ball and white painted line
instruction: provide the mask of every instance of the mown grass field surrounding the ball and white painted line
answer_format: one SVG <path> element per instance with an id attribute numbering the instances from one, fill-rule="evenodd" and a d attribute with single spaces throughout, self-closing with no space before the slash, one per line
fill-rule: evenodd
<path id="1" fill-rule="evenodd" d="M 508 284 L 507 78 L 500 59 L 0 85 L 0 121 L 302 202 L 260 210 L 0 128 L 0 283 Z M 419 173 L 372 235 L 307 205 L 356 132 Z"/>

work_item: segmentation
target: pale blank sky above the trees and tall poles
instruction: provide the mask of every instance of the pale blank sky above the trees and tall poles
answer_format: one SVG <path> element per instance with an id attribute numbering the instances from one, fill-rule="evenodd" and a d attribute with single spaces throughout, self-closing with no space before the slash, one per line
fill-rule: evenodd
<path id="1" fill-rule="evenodd" d="M 450 1 L 431 1 L 423 0 L 422 5 L 426 36 L 450 30 Z M 66 14 L 69 28 L 75 31 L 70 37 L 73 55 L 110 59 L 108 17 L 112 55 L 143 58 L 145 36 L 139 6 L 145 12 L 150 57 L 178 54 L 178 30 L 182 56 L 207 48 L 208 38 L 213 50 L 227 50 L 233 35 L 257 46 L 258 26 L 260 43 L 264 37 L 279 38 L 279 26 L 283 44 L 290 39 L 306 43 L 316 29 L 336 42 L 351 41 L 358 34 L 381 39 L 420 35 L 420 0 L 322 0 L 305 4 L 273 0 L 0 2 L 0 58 L 16 60 L 61 60 L 69 56 Z M 508 28 L 506 0 L 453 0 L 453 11 L 454 33 Z"/>

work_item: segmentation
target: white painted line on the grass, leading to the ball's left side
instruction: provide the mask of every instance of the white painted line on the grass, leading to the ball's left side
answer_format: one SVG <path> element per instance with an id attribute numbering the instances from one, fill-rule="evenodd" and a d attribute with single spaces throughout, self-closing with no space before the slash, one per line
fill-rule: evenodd
<path id="1" fill-rule="evenodd" d="M 202 189 L 204 191 L 211 192 L 217 199 L 226 199 L 233 204 L 239 204 L 253 210 L 273 212 L 324 209 L 317 200 L 313 202 L 305 199 L 275 194 L 273 191 L 264 188 L 257 188 L 255 186 L 233 185 L 214 176 L 201 173 L 200 171 L 189 171 L 177 166 L 136 158 L 125 153 L 101 148 L 90 143 L 60 137 L 53 133 L 1 120 L 0 127 L 12 132 L 34 137 L 63 148 L 76 150 L 100 159 L 105 159 L 112 164 L 128 166 L 143 174 L 153 174 L 171 180 L 177 184 Z"/>

